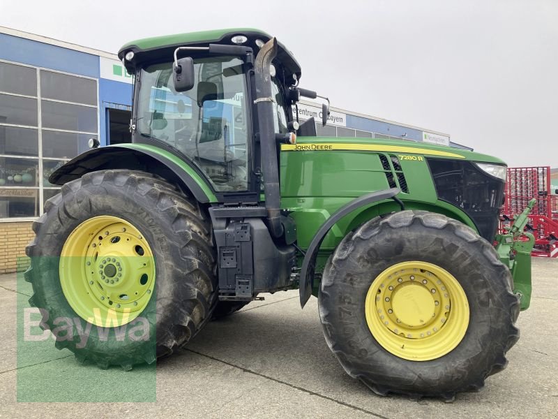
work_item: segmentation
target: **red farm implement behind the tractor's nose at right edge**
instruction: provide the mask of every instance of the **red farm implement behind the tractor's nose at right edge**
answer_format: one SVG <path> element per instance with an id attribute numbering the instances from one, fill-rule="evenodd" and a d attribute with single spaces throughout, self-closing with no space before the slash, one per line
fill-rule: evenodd
<path id="1" fill-rule="evenodd" d="M 536 204 L 525 228 L 535 236 L 531 256 L 558 258 L 558 196 L 550 191 L 550 167 L 508 168 L 502 226 L 510 226 L 531 198 Z"/>

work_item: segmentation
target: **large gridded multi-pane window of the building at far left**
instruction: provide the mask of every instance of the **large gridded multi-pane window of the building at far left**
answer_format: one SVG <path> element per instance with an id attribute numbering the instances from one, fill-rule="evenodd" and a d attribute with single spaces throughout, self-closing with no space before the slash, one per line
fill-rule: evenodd
<path id="1" fill-rule="evenodd" d="M 0 61 L 0 221 L 31 219 L 48 177 L 98 138 L 97 80 Z"/>

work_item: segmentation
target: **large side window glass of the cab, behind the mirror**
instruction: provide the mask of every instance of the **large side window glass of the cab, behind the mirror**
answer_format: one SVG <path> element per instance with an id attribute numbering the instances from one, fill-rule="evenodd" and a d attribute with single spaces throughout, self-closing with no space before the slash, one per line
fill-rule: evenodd
<path id="1" fill-rule="evenodd" d="M 248 120 L 243 61 L 194 59 L 195 86 L 176 92 L 172 62 L 142 69 L 136 130 L 197 165 L 216 191 L 248 189 Z"/>

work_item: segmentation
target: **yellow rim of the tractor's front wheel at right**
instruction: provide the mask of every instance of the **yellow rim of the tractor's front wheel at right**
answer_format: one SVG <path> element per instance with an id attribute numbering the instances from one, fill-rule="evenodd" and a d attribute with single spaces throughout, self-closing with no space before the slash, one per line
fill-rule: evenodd
<path id="1" fill-rule="evenodd" d="M 365 302 L 372 336 L 399 358 L 428 361 L 453 351 L 469 326 L 458 280 L 432 263 L 393 265 L 372 282 Z"/>

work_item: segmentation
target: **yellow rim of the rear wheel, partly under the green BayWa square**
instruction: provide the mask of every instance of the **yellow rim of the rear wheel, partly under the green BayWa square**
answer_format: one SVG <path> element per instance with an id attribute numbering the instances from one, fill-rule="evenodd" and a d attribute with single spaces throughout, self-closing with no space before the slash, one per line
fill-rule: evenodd
<path id="1" fill-rule="evenodd" d="M 59 274 L 63 294 L 81 318 L 116 327 L 133 321 L 149 303 L 155 260 L 144 235 L 131 223 L 96 216 L 68 236 Z"/>

